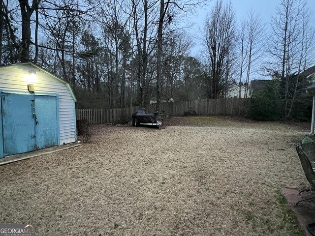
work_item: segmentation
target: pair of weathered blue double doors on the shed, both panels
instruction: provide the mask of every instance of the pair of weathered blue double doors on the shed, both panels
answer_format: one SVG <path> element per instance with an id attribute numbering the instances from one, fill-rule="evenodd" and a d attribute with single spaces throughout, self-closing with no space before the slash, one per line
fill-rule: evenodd
<path id="1" fill-rule="evenodd" d="M 57 97 L 2 93 L 4 156 L 58 145 Z"/>

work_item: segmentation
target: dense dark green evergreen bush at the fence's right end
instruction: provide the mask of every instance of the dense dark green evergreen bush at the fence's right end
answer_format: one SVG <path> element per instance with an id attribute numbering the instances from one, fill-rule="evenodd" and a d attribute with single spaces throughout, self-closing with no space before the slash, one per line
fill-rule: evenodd
<path id="1" fill-rule="evenodd" d="M 256 120 L 277 120 L 281 118 L 278 109 L 279 83 L 271 80 L 252 96 L 248 117 Z"/>

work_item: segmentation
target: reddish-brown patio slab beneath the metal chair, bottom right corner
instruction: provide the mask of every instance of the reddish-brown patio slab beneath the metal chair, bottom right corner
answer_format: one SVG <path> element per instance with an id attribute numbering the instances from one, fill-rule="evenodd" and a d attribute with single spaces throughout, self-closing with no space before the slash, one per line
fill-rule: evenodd
<path id="1" fill-rule="evenodd" d="M 298 206 L 296 206 L 296 203 L 298 201 L 301 201 L 303 199 L 311 198 L 315 196 L 315 192 L 303 192 L 301 195 L 299 195 L 298 189 L 292 189 L 292 188 L 283 188 L 282 189 L 284 196 L 288 202 L 288 204 L 292 207 L 294 210 L 297 219 L 299 220 L 301 226 L 306 232 L 307 236 L 312 236 L 309 231 L 307 230 L 307 226 L 309 224 L 315 223 L 315 199 L 301 202 Z"/>

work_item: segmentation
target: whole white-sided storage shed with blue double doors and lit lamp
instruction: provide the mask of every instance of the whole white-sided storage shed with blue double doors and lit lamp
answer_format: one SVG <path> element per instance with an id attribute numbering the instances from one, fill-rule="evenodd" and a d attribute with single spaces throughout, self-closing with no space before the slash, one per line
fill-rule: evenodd
<path id="1" fill-rule="evenodd" d="M 69 84 L 32 63 L 0 66 L 0 158 L 76 141 Z"/>

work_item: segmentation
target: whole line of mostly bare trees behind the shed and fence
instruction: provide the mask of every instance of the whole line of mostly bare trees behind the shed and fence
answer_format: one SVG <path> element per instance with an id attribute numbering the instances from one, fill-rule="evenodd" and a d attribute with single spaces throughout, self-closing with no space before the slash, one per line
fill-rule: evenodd
<path id="1" fill-rule="evenodd" d="M 290 115 L 314 63 L 305 0 L 280 0 L 269 23 L 255 11 L 237 20 L 217 0 L 202 38 L 183 19 L 205 0 L 1 0 L 0 64 L 32 61 L 70 83 L 79 108 L 145 107 L 150 102 L 228 95 L 257 75 L 281 84 Z M 202 45 L 199 57 L 191 56 Z M 266 60 L 268 59 L 268 60 Z M 255 76 L 255 77 L 253 77 Z"/>

